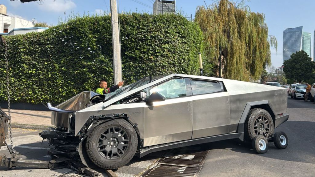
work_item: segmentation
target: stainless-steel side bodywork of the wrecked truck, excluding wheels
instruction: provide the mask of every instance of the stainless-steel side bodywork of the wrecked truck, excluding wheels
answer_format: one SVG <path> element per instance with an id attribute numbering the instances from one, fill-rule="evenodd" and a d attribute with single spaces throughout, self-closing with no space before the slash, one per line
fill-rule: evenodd
<path id="1" fill-rule="evenodd" d="M 154 101 L 151 105 L 145 102 L 146 95 L 151 93 L 150 89 L 154 90 L 153 87 L 163 85 L 173 78 L 182 80 L 182 83 L 186 84 L 185 93 L 178 93 L 178 96 L 175 94 L 176 97 L 165 96 L 165 100 Z M 207 89 L 202 85 L 203 83 L 198 83 L 201 87 L 192 87 L 192 84 L 196 84 L 198 80 L 221 84 L 221 91 L 206 94 L 194 92 L 193 89 L 196 88 Z M 168 89 L 172 90 L 173 96 L 174 92 L 180 91 L 179 88 Z M 120 103 L 135 94 L 140 95 L 139 101 Z M 215 77 L 172 74 L 152 82 L 150 79 L 150 82 L 144 85 L 77 111 L 74 134 L 79 135 L 89 117 L 106 114 L 127 115 L 129 122 L 138 130 L 141 147 L 235 132 L 242 133 L 243 130 L 238 130 L 238 125 L 244 123 L 240 121 L 242 116 L 246 118 L 247 113 L 244 113 L 246 105 L 253 102 L 270 107 L 270 114 L 277 119 L 280 114 L 285 114 L 287 111 L 287 89 Z M 246 110 L 250 107 L 249 105 Z M 66 125 L 66 121 L 58 122 L 57 115 L 58 113 L 53 114 L 54 124 Z M 69 115 L 60 117 L 64 117 L 65 120 Z M 283 123 L 286 118 L 287 116 L 279 119 L 277 123 Z"/>

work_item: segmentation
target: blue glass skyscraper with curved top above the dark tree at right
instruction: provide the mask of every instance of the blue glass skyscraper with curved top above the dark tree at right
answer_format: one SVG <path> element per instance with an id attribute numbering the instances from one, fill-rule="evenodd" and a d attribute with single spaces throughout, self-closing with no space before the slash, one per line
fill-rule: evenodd
<path id="1" fill-rule="evenodd" d="M 311 33 L 303 32 L 303 26 L 287 28 L 283 31 L 283 58 L 289 60 L 292 53 L 304 50 L 311 56 Z"/>

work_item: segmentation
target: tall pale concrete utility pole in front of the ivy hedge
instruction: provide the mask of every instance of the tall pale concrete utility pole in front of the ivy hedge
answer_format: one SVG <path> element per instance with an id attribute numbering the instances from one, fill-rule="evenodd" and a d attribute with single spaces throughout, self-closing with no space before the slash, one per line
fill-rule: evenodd
<path id="1" fill-rule="evenodd" d="M 118 14 L 116 0 L 111 1 L 111 19 L 112 19 L 112 42 L 113 42 L 113 62 L 114 62 L 114 84 L 122 81 L 120 36 L 118 26 Z"/>

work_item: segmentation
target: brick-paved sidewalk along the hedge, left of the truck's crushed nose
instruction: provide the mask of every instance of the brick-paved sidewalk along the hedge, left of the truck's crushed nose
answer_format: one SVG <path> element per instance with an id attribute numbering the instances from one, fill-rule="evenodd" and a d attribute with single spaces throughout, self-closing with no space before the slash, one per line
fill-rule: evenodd
<path id="1" fill-rule="evenodd" d="M 8 109 L 2 109 L 7 115 Z M 11 126 L 13 128 L 27 128 L 46 130 L 51 125 L 51 111 L 30 111 L 11 109 Z"/>

